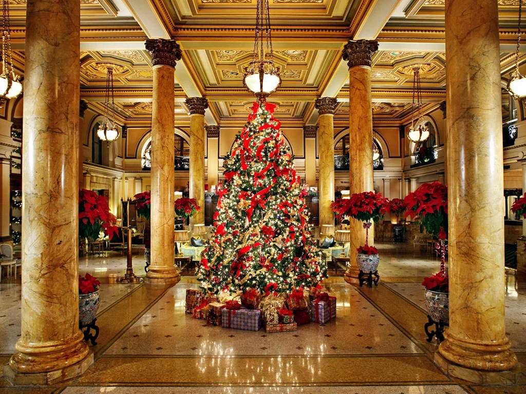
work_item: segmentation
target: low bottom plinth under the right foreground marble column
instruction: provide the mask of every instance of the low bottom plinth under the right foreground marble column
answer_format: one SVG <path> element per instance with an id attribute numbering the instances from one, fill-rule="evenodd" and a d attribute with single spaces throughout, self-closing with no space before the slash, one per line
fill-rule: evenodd
<path id="1" fill-rule="evenodd" d="M 434 353 L 434 364 L 449 378 L 463 379 L 480 385 L 516 385 L 522 375 L 519 366 L 508 371 L 481 371 L 462 367 L 447 360 L 438 351 Z"/>

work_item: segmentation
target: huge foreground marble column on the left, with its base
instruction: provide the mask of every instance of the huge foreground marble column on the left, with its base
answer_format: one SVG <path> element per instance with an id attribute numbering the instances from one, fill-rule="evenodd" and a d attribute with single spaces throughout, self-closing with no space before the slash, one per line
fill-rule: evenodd
<path id="1" fill-rule="evenodd" d="M 24 74 L 22 331 L 4 370 L 14 384 L 82 374 L 78 329 L 80 6 L 28 0 Z"/>

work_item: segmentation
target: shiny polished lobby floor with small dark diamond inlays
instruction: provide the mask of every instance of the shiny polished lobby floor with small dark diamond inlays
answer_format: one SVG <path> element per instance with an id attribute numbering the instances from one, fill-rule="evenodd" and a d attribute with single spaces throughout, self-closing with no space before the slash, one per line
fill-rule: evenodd
<path id="1" fill-rule="evenodd" d="M 108 277 L 124 272 L 126 258 L 84 257 L 80 273 L 103 278 L 95 364 L 83 377 L 60 387 L 13 388 L 0 380 L 0 394 L 526 392 L 526 376 L 522 385 L 501 387 L 474 386 L 444 376 L 432 362 L 437 344 L 425 340 L 427 318 L 419 284 L 422 276 L 437 271 L 437 258 L 425 247 L 378 246 L 378 287 L 359 288 L 341 277 L 330 278 L 326 285 L 337 296 L 337 318 L 276 334 L 209 326 L 185 315 L 185 290 L 197 287 L 193 277 L 183 277 L 174 287 L 110 284 Z M 144 275 L 141 255 L 134 256 L 134 269 Z M 511 273 L 508 278 L 507 330 L 519 360 L 525 362 L 526 292 Z M 2 364 L 20 331 L 17 282 L 0 283 Z"/>

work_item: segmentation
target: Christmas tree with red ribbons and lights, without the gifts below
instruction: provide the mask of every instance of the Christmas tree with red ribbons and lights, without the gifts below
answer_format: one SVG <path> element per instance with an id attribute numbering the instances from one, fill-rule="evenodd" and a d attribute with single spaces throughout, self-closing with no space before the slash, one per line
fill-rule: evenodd
<path id="1" fill-rule="evenodd" d="M 226 183 L 219 191 L 215 235 L 197 274 L 208 292 L 290 293 L 326 277 L 310 232 L 307 192 L 272 116 L 275 107 L 254 103 L 223 162 Z"/>

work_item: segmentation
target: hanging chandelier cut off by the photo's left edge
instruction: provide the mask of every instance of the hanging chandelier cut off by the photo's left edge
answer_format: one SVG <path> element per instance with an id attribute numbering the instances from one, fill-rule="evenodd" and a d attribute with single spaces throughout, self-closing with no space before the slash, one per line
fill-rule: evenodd
<path id="1" fill-rule="evenodd" d="M 11 54 L 11 28 L 9 21 L 9 0 L 2 0 L 2 74 L 0 75 L 1 105 L 8 99 L 22 93 L 22 84 L 13 67 Z M 1 107 L 0 105 L 0 107 Z"/>

